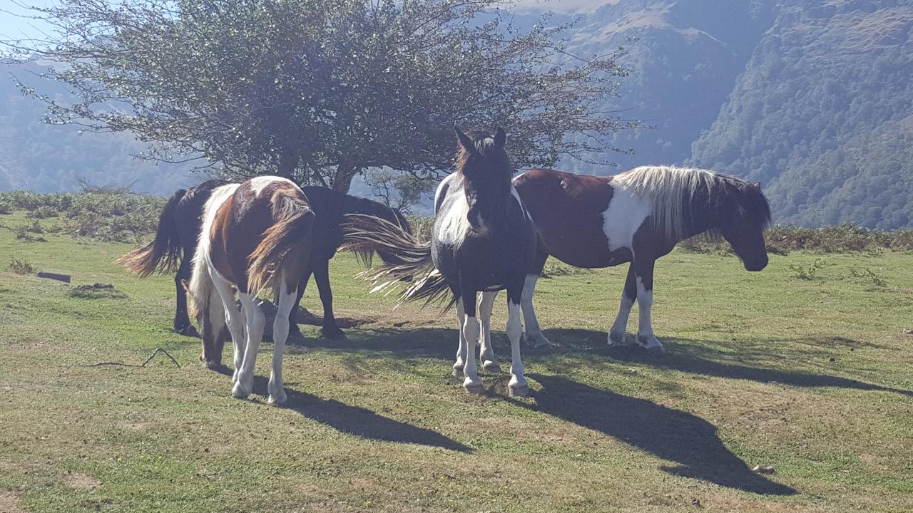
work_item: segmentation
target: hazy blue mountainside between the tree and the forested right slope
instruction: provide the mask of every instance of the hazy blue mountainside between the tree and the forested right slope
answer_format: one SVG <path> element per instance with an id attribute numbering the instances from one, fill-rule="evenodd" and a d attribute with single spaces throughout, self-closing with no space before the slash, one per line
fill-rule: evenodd
<path id="1" fill-rule="evenodd" d="M 633 70 L 621 82 L 620 97 L 603 110 L 650 128 L 614 134 L 616 148 L 634 151 L 608 155 L 615 168 L 585 162 L 561 167 L 607 174 L 687 160 L 691 143 L 716 120 L 771 25 L 770 11 L 760 2 L 740 0 L 619 0 L 579 16 L 567 36 L 570 52 L 589 56 L 624 47 L 620 64 Z"/>

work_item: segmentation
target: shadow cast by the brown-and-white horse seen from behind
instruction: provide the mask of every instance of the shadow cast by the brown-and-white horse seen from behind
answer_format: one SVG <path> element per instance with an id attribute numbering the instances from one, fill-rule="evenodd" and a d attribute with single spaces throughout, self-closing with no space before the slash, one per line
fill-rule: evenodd
<path id="1" fill-rule="evenodd" d="M 222 371 L 220 371 L 222 372 Z M 230 371 L 222 372 L 231 375 Z M 287 383 L 288 384 L 288 383 Z M 268 380 L 264 376 L 254 376 L 254 393 L 268 395 Z M 367 408 L 341 403 L 335 399 L 323 399 L 311 393 L 296 391 L 286 386 L 289 402 L 284 408 L 293 410 L 301 416 L 329 425 L 342 433 L 355 434 L 382 442 L 399 444 L 418 444 L 441 447 L 462 453 L 470 452 L 467 445 L 460 444 L 434 430 L 375 414 Z"/>

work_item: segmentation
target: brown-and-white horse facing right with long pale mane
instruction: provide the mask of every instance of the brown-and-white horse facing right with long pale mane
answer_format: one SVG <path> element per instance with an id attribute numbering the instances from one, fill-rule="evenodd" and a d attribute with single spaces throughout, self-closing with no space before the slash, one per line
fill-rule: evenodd
<path id="1" fill-rule="evenodd" d="M 625 343 L 636 299 L 635 341 L 659 352 L 663 344 L 650 319 L 657 258 L 682 240 L 704 234 L 729 242 L 749 271 L 760 271 L 768 263 L 764 230 L 771 224 L 771 207 L 761 183 L 702 169 L 643 166 L 605 177 L 533 169 L 519 174 L 513 185 L 539 236 L 523 294 L 525 337 L 535 347 L 550 345 L 532 307 L 536 281 L 548 257 L 574 267 L 630 263 L 608 343 Z"/>

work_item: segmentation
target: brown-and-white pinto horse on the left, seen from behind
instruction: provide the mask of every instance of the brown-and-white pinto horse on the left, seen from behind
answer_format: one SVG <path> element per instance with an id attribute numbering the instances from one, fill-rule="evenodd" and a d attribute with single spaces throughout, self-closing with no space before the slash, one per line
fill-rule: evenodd
<path id="1" fill-rule="evenodd" d="M 199 320 L 204 351 L 217 349 L 216 356 L 221 357 L 224 327 L 231 333 L 235 397 L 247 397 L 253 387 L 265 323 L 257 293 L 272 285 L 278 290 L 278 311 L 273 321 L 269 402 L 286 401 L 282 354 L 289 336 L 289 312 L 310 259 L 313 222 L 308 197 L 298 185 L 278 176 L 223 185 L 205 204 L 187 292 Z"/>

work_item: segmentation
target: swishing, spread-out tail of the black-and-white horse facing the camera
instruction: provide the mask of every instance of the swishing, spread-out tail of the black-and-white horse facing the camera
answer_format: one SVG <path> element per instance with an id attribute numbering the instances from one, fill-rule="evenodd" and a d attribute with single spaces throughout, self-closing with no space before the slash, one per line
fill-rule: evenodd
<path id="1" fill-rule="evenodd" d="M 344 216 L 340 227 L 343 251 L 383 252 L 398 260 L 359 274 L 372 282 L 372 293 L 386 290 L 389 294 L 400 282 L 409 282 L 400 294 L 400 302 L 425 299 L 425 306 L 439 304 L 443 309 L 456 304 L 456 297 L 447 294 L 450 286 L 431 259 L 431 242 L 413 236 L 408 225 L 373 215 L 349 214 Z"/>

